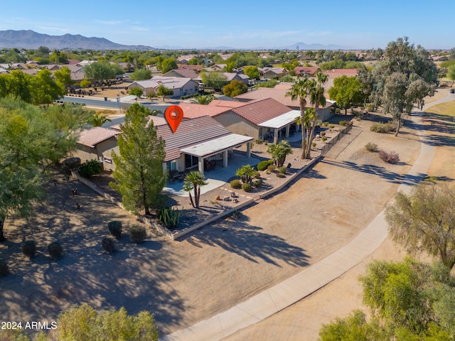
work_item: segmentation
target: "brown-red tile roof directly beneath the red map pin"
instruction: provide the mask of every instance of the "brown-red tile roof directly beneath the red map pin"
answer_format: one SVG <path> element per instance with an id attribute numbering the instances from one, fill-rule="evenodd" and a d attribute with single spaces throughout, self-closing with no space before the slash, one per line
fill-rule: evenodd
<path id="1" fill-rule="evenodd" d="M 161 139 L 166 141 L 166 146 L 164 147 L 166 158 L 164 161 L 179 158 L 182 148 L 232 134 L 215 119 L 208 116 L 181 121 L 175 133 L 171 131 L 168 125 L 158 126 L 156 130 Z"/>

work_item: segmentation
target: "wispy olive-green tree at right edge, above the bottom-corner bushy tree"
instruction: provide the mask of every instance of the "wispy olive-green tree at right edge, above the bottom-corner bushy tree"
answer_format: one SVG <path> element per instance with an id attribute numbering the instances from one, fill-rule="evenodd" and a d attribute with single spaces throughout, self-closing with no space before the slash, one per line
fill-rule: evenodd
<path id="1" fill-rule="evenodd" d="M 385 219 L 395 242 L 412 253 L 427 251 L 451 269 L 455 264 L 455 190 L 418 185 L 410 195 L 397 193 Z"/>

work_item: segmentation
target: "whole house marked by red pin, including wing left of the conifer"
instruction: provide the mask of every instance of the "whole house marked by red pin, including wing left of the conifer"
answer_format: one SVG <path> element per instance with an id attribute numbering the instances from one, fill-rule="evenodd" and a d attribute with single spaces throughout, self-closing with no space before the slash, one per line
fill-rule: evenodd
<path id="1" fill-rule="evenodd" d="M 228 166 L 228 158 L 233 148 L 247 144 L 247 156 L 250 157 L 252 137 L 232 134 L 223 125 L 209 116 L 184 119 L 174 133 L 164 117 L 151 116 L 156 132 L 165 141 L 166 157 L 163 170 L 185 172 L 198 170 L 204 173 L 206 165 L 218 161 L 223 167 Z M 75 156 L 81 160 L 96 159 L 105 169 L 115 169 L 112 163 L 112 151 L 119 153 L 117 136 L 122 134 L 122 124 L 111 129 L 92 128 L 82 131 L 77 140 L 78 150 Z"/>

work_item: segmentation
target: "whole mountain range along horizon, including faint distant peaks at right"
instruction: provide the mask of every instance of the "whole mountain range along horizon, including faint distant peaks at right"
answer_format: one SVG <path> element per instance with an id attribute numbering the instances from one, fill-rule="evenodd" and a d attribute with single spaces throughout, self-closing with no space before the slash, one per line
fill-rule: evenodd
<path id="1" fill-rule="evenodd" d="M 63 36 L 50 36 L 48 34 L 36 33 L 31 30 L 7 30 L 0 31 L 0 48 L 26 48 L 38 49 L 40 46 L 59 50 L 188 50 L 182 46 L 156 46 L 151 48 L 146 45 L 122 45 L 113 43 L 106 38 L 97 38 L 81 36 L 80 34 L 65 34 Z M 295 43 L 288 46 L 275 46 L 275 47 L 253 47 L 253 48 L 233 48 L 230 46 L 216 46 L 216 47 L 199 47 L 198 50 L 353 50 L 352 47 L 341 45 L 321 45 L 321 44 L 306 44 Z"/>

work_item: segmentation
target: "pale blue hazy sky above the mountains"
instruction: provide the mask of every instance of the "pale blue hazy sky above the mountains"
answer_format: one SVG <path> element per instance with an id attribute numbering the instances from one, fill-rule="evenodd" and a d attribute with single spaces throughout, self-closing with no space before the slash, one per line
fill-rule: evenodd
<path id="1" fill-rule="evenodd" d="M 0 31 L 100 37 L 124 45 L 275 48 L 294 43 L 385 48 L 409 37 L 455 46 L 454 0 L 4 1 Z"/>

